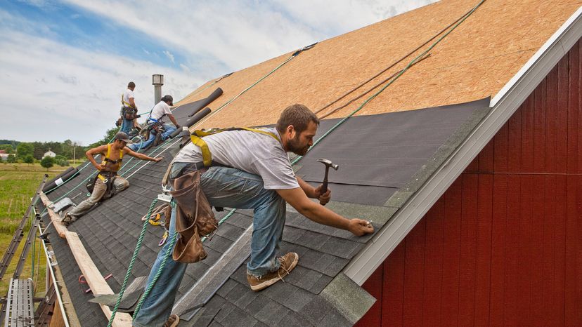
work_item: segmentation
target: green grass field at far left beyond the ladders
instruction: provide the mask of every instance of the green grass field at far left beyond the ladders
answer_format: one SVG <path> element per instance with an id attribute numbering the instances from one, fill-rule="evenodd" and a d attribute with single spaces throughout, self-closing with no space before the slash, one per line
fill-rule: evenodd
<path id="1" fill-rule="evenodd" d="M 43 175 L 48 174 L 48 179 L 55 177 L 67 167 L 53 167 L 49 170 L 41 167 L 38 163 L 0 163 L 0 253 L 4 255 L 6 248 L 13 237 L 14 231 L 18 228 L 22 216 L 25 214 L 30 204 L 34 192 L 40 185 Z M 34 216 L 33 216 L 34 217 Z M 30 224 L 30 223 L 29 223 Z M 0 296 L 4 296 L 8 291 L 8 282 L 16 268 L 18 258 L 24 240 L 28 234 L 27 226 L 25 236 L 20 242 L 20 247 L 15 253 L 8 271 L 0 281 Z M 44 252 L 41 250 L 39 239 L 35 242 L 34 256 L 34 276 L 32 276 L 32 248 L 22 270 L 21 279 L 32 278 L 37 281 L 35 293 L 44 295 L 44 276 L 46 274 L 46 261 Z"/>

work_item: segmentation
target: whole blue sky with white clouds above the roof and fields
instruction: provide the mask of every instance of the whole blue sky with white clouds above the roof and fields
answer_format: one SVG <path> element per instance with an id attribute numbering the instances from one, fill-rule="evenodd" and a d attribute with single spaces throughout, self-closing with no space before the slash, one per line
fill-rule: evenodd
<path id="1" fill-rule="evenodd" d="M 0 1 L 0 139 L 103 138 L 129 81 L 174 102 L 210 79 L 435 0 Z"/>

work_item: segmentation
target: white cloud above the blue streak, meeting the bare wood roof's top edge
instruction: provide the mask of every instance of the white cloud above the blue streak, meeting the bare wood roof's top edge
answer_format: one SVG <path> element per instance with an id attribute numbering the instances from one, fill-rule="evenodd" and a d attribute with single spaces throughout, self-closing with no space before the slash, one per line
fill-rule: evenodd
<path id="1" fill-rule="evenodd" d="M 85 1 L 63 0 L 148 34 L 189 67 L 205 60 L 219 74 L 243 69 L 434 0 Z M 398 8 L 398 9 L 396 9 Z M 209 24 L 212 22 L 212 24 Z M 198 69 L 193 69 L 196 71 Z M 205 76 L 208 79 L 215 77 Z"/>

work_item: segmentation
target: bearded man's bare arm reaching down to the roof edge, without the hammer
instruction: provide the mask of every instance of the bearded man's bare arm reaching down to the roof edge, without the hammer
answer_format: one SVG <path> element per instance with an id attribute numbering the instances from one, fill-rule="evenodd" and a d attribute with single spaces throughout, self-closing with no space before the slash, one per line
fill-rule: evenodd
<path id="1" fill-rule="evenodd" d="M 299 180 L 299 179 L 298 179 Z M 301 185 L 301 182 L 299 182 Z M 313 188 L 313 187 L 311 187 Z M 321 204 L 309 200 L 302 188 L 277 189 L 277 193 L 299 213 L 319 224 L 345 229 L 356 236 L 374 232 L 374 227 L 366 220 L 347 219 L 330 211 Z"/>

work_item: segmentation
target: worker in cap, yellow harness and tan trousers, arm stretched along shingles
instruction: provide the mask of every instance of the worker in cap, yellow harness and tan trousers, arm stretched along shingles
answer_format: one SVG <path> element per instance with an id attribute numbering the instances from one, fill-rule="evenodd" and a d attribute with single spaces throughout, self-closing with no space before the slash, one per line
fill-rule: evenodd
<path id="1" fill-rule="evenodd" d="M 117 171 L 119 171 L 119 168 L 121 167 L 124 155 L 156 162 L 162 160 L 161 157 L 152 158 L 145 154 L 133 152 L 126 147 L 128 143 L 131 143 L 131 141 L 127 134 L 119 132 L 115 135 L 112 143 L 101 145 L 100 147 L 93 147 L 93 149 L 89 149 L 89 151 L 85 153 L 87 159 L 93 163 L 93 166 L 97 168 L 99 174 L 95 179 L 93 192 L 91 192 L 89 199 L 82 201 L 79 203 L 79 206 L 76 206 L 65 215 L 65 218 L 63 218 L 63 223 L 65 225 L 70 225 L 71 222 L 74 222 L 77 218 L 87 213 L 95 203 L 101 201 L 104 197 L 111 197 L 129 187 L 129 182 L 125 178 L 117 175 Z M 101 154 L 101 157 L 103 158 L 101 164 L 98 164 L 95 161 L 93 156 L 96 154 Z"/>

